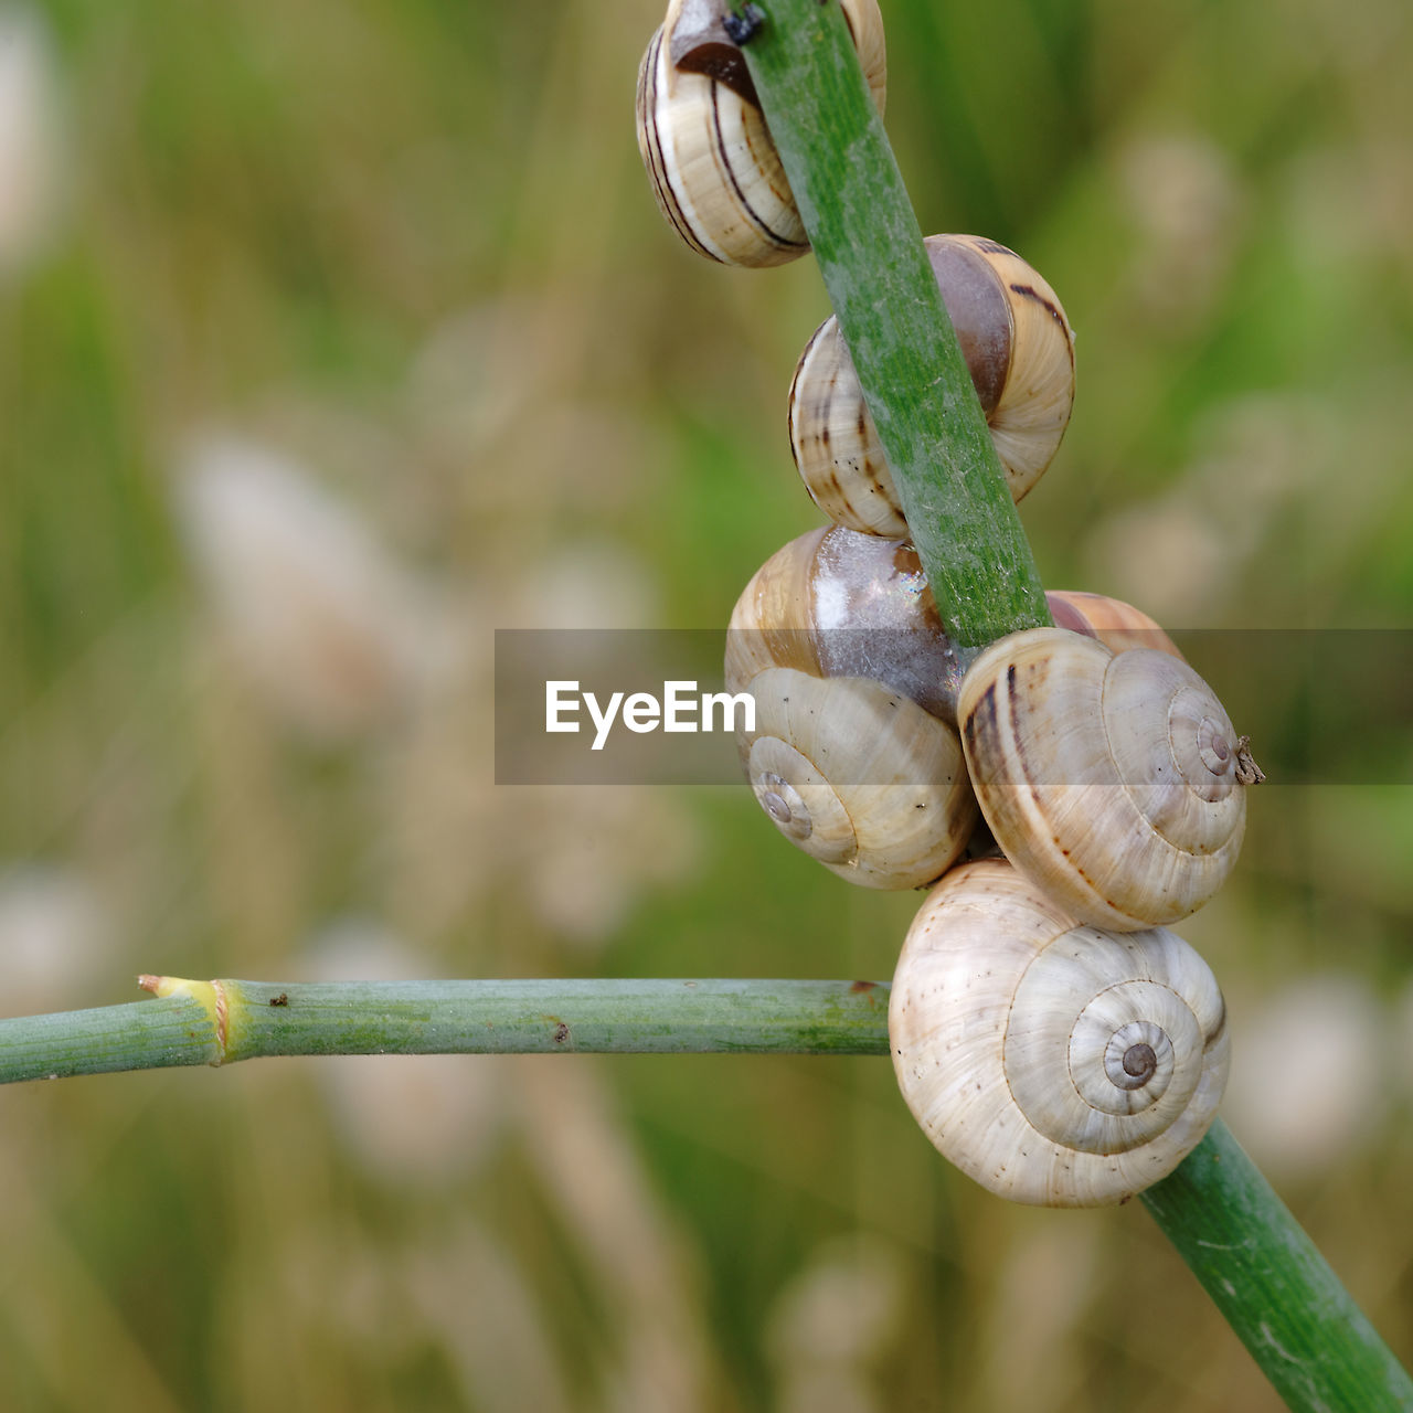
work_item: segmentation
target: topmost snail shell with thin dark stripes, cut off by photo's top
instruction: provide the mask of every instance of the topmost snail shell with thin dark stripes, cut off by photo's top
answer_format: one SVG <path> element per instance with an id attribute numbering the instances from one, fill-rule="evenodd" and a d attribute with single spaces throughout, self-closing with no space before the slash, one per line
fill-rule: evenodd
<path id="1" fill-rule="evenodd" d="M 786 264 L 810 249 L 790 184 L 742 69 L 731 83 L 681 66 L 673 0 L 637 75 L 637 146 L 668 223 L 698 254 L 723 264 Z M 844 0 L 869 90 L 883 112 L 887 62 L 876 0 Z"/>

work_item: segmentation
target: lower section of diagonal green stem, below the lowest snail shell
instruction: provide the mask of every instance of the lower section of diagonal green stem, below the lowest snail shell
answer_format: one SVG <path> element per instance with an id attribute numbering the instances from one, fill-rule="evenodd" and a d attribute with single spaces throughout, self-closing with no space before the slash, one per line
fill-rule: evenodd
<path id="1" fill-rule="evenodd" d="M 1143 1202 L 1289 1407 L 1413 1409 L 1413 1381 L 1225 1123 Z"/>

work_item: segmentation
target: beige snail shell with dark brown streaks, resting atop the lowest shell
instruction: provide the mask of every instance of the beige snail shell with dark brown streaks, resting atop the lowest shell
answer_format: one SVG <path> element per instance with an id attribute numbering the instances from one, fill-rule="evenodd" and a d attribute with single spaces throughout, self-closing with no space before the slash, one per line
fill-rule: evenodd
<path id="1" fill-rule="evenodd" d="M 1072 917 L 1174 923 L 1225 882 L 1246 824 L 1243 742 L 1184 661 L 1030 629 L 972 663 L 957 711 L 996 842 Z"/>

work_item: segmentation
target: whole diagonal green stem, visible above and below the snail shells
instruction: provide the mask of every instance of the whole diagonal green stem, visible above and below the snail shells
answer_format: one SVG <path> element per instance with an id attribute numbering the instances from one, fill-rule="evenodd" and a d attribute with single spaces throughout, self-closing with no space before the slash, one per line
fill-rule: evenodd
<path id="1" fill-rule="evenodd" d="M 760 0 L 746 65 L 954 640 L 1050 622 L 842 13 Z M 1145 1197 L 1291 1409 L 1413 1409 L 1413 1385 L 1218 1121 Z"/>

